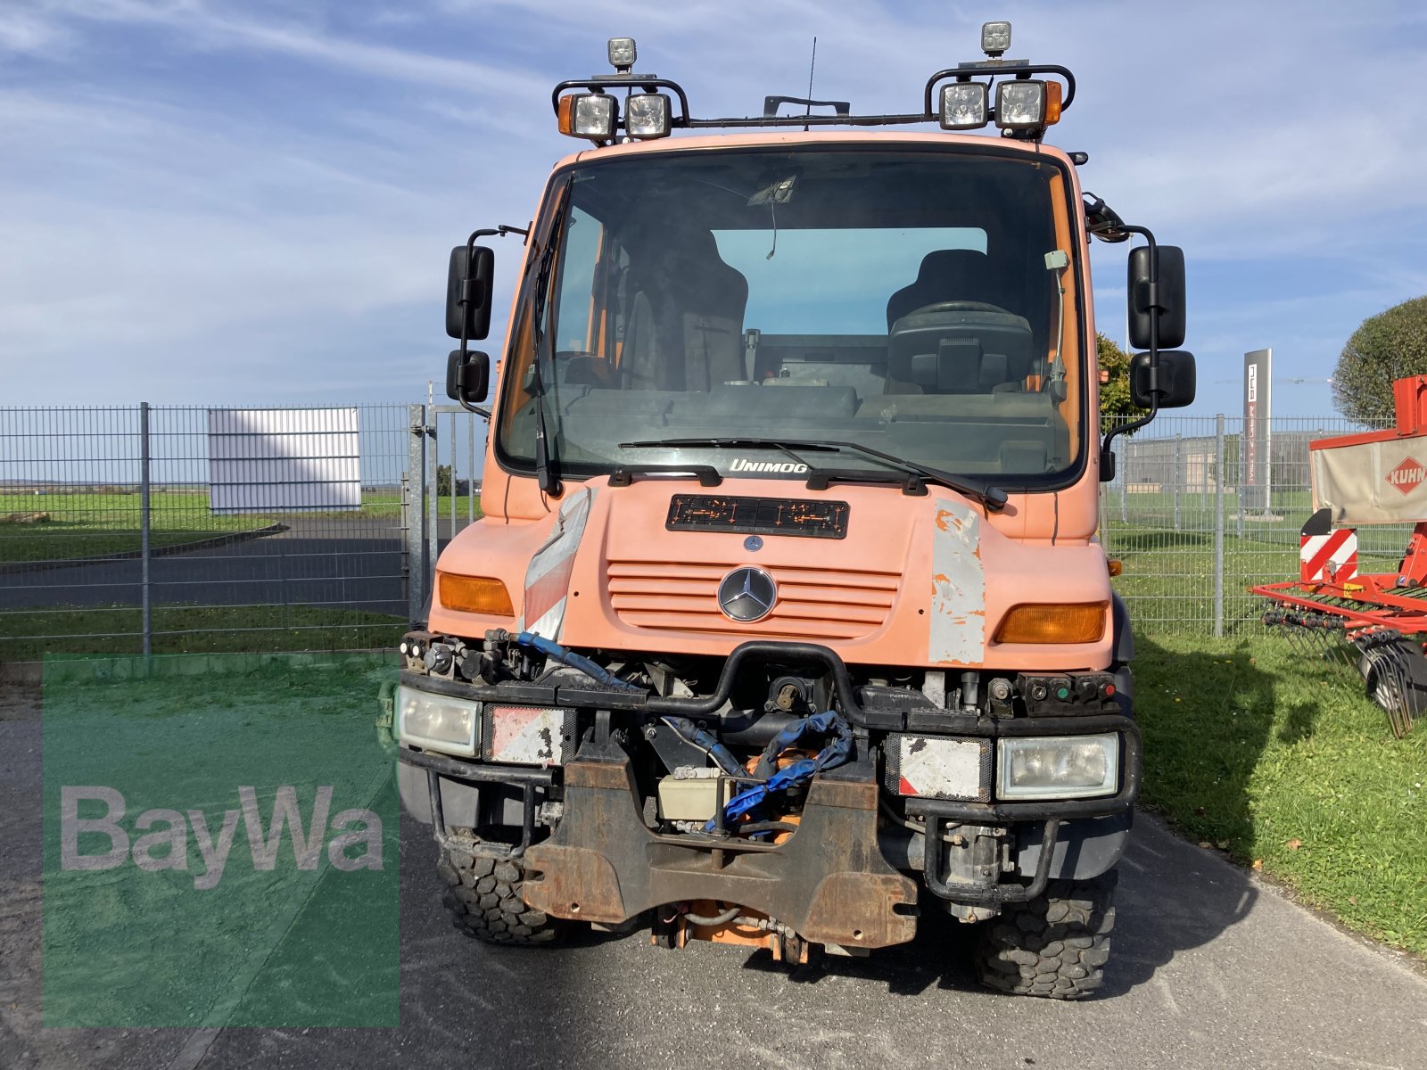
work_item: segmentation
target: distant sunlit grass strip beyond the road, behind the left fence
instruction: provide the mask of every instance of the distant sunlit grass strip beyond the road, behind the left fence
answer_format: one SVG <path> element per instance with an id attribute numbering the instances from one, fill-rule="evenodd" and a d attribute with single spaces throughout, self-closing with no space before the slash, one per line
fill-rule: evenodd
<path id="1" fill-rule="evenodd" d="M 441 518 L 451 515 L 451 498 L 437 499 Z M 455 499 L 457 521 L 469 512 L 467 496 Z M 23 518 L 46 514 L 47 519 L 26 522 Z M 481 516 L 477 495 L 475 515 Z M 14 516 L 16 519 L 10 519 Z M 208 512 L 208 492 L 154 491 L 150 495 L 150 545 L 176 546 L 187 542 L 255 531 L 293 516 L 323 518 L 400 518 L 400 491 L 367 491 L 360 512 L 300 512 L 255 515 L 214 515 Z M 76 494 L 0 494 L 0 562 L 74 561 L 140 549 L 140 496 L 137 492 Z"/>

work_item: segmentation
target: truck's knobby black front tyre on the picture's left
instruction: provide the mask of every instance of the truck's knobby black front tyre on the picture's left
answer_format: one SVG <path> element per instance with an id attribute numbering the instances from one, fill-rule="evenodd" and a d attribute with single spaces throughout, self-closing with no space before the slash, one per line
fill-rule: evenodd
<path id="1" fill-rule="evenodd" d="M 457 929 L 487 943 L 554 943 L 564 924 L 521 899 L 521 859 L 441 849 L 437 873 L 450 885 L 442 899 Z"/>

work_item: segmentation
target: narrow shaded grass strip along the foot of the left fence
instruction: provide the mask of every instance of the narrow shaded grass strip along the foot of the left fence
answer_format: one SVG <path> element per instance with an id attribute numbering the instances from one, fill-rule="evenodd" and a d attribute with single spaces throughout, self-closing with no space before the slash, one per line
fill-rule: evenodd
<path id="1" fill-rule="evenodd" d="M 0 661 L 46 653 L 141 653 L 137 606 L 51 606 L 0 613 Z M 237 653 L 390 648 L 407 621 L 365 609 L 183 606 L 153 609 L 154 653 Z"/>

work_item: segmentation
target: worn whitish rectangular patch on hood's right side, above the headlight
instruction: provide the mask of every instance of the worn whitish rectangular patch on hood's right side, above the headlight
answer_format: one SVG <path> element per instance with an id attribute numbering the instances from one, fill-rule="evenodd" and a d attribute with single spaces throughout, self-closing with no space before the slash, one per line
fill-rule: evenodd
<path id="1" fill-rule="evenodd" d="M 979 665 L 985 651 L 986 572 L 980 559 L 980 514 L 969 502 L 938 498 L 928 661 Z"/>

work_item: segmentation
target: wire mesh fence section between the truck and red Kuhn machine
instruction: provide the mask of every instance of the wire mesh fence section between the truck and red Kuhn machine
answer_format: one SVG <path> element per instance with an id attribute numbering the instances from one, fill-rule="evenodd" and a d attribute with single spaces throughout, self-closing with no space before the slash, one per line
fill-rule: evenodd
<path id="1" fill-rule="evenodd" d="M 1299 575 L 1299 529 L 1313 508 L 1309 442 L 1361 429 L 1339 418 L 1273 419 L 1266 488 L 1246 485 L 1237 417 L 1160 417 L 1117 439 L 1100 539 L 1123 562 L 1114 585 L 1136 626 L 1226 635 L 1257 622 L 1263 603 L 1247 588 Z M 1410 534 L 1410 525 L 1360 528 L 1360 568 L 1396 569 Z"/>

